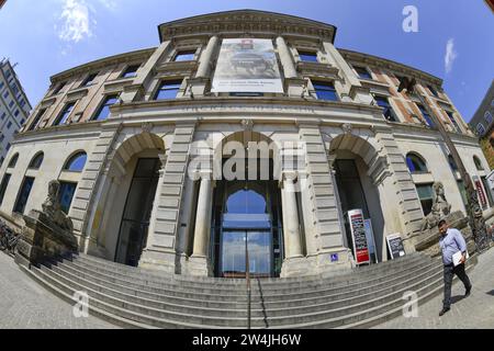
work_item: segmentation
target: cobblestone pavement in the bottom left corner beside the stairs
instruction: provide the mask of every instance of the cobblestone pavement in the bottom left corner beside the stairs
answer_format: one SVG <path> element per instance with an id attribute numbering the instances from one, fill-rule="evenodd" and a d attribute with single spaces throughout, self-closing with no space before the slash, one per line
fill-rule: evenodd
<path id="1" fill-rule="evenodd" d="M 93 316 L 76 318 L 72 306 L 29 278 L 0 252 L 1 329 L 113 329 Z"/>

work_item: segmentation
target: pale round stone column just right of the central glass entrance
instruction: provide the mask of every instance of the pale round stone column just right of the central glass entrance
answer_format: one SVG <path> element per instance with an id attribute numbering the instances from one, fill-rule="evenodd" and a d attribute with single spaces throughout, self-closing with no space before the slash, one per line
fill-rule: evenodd
<path id="1" fill-rule="evenodd" d="M 296 194 L 294 180 L 295 172 L 283 174 L 284 211 L 287 212 L 287 222 L 284 223 L 285 241 L 288 241 L 288 250 L 285 259 L 301 258 L 302 245 L 300 237 L 299 210 L 296 205 Z"/>

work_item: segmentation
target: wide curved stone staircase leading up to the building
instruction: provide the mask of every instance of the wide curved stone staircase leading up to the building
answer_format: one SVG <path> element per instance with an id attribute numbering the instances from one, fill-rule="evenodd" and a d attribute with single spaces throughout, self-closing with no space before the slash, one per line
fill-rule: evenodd
<path id="1" fill-rule="evenodd" d="M 50 268 L 23 269 L 72 304 L 75 292 L 86 292 L 92 315 L 124 328 L 247 326 L 245 280 L 164 274 L 85 254 Z M 402 315 L 409 291 L 420 304 L 441 293 L 441 262 L 414 253 L 330 276 L 252 280 L 251 326 L 367 328 Z"/>

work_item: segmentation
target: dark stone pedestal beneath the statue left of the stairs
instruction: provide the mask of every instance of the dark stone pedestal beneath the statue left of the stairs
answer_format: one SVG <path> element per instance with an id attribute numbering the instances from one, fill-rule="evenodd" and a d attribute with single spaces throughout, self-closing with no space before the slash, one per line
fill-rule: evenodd
<path id="1" fill-rule="evenodd" d="M 44 213 L 32 211 L 29 216 L 24 216 L 24 222 L 25 227 L 15 252 L 18 264 L 40 267 L 78 252 L 72 233 L 56 226 Z"/>

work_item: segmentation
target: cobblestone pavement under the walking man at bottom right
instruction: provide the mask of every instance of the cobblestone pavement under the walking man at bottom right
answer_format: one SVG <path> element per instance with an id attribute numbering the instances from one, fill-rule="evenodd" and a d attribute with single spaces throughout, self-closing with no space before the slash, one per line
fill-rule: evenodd
<path id="1" fill-rule="evenodd" d="M 439 317 L 441 295 L 419 306 L 417 318 L 398 317 L 379 329 L 494 329 L 494 248 L 479 257 L 479 264 L 468 273 L 472 294 L 463 298 L 464 286 L 457 280 L 451 296 L 451 310 Z"/>

